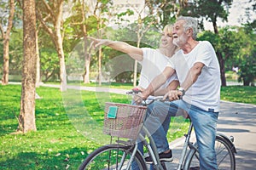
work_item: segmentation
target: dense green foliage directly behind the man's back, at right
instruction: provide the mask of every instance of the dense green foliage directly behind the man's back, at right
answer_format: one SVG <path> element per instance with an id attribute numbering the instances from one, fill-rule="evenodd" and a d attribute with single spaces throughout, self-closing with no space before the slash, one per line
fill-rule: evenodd
<path id="1" fill-rule="evenodd" d="M 253 85 L 256 72 L 255 63 L 255 41 L 256 37 L 247 27 L 230 27 L 221 28 L 218 35 L 212 31 L 203 31 L 198 40 L 207 40 L 212 42 L 217 53 L 224 56 L 218 58 L 221 69 L 237 66 L 240 68 L 239 80 L 245 86 Z M 225 72 L 226 70 L 224 70 Z"/>

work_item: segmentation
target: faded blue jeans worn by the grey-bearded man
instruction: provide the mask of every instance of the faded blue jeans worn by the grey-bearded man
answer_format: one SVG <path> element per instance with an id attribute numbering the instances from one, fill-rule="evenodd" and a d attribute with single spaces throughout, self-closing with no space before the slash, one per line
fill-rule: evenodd
<path id="1" fill-rule="evenodd" d="M 166 105 L 166 103 L 168 105 Z M 158 152 L 169 150 L 166 139 L 166 117 L 177 116 L 187 111 L 194 124 L 195 137 L 198 143 L 201 169 L 217 169 L 216 153 L 214 150 L 218 112 L 203 111 L 195 105 L 189 105 L 183 100 L 172 102 L 154 102 L 148 106 L 147 117 L 144 125 L 152 134 Z"/>

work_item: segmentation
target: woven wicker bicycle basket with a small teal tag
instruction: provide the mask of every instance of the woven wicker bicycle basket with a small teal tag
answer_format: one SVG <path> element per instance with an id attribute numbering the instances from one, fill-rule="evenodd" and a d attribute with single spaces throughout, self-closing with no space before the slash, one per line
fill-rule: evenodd
<path id="1" fill-rule="evenodd" d="M 137 139 L 147 107 L 106 102 L 103 133 L 126 139 Z M 110 115 L 109 115 L 110 114 Z"/>

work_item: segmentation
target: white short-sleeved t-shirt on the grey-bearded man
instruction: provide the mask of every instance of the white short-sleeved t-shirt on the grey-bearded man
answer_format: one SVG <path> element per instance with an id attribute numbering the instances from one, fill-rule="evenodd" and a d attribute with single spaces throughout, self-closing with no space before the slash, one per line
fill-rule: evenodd
<path id="1" fill-rule="evenodd" d="M 167 66 L 176 71 L 180 84 L 184 82 L 189 69 L 195 62 L 205 65 L 201 75 L 183 96 L 183 100 L 202 110 L 212 109 L 214 112 L 218 112 L 221 86 L 220 69 L 212 44 L 207 41 L 199 42 L 189 54 L 183 54 L 183 50 L 179 50 L 169 61 Z"/>

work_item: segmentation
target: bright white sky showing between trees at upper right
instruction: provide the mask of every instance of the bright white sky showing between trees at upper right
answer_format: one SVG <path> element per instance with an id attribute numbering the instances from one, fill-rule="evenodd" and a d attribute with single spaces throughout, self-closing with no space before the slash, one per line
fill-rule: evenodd
<path id="1" fill-rule="evenodd" d="M 246 10 L 247 7 L 252 7 L 253 1 L 247 3 L 249 0 L 233 0 L 232 6 L 230 8 L 230 14 L 228 17 L 228 22 L 222 22 L 218 20 L 218 26 L 241 26 L 241 23 L 246 22 Z M 242 20 L 243 18 L 243 20 Z M 251 11 L 251 20 L 256 20 L 256 12 Z M 205 22 L 206 30 L 213 30 L 212 23 Z"/>

